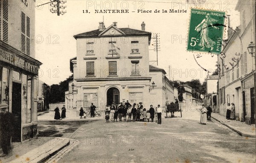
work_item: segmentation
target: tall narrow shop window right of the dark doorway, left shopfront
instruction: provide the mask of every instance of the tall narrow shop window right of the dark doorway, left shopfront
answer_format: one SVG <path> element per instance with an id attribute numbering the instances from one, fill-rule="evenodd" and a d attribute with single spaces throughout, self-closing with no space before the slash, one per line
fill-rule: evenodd
<path id="1" fill-rule="evenodd" d="M 32 77 L 27 77 L 27 108 L 26 108 L 26 123 L 31 122 L 32 110 Z"/>

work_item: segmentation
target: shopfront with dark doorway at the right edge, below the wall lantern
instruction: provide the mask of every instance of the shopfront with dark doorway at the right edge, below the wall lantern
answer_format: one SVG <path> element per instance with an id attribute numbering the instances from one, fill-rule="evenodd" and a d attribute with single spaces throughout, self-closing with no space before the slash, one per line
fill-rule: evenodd
<path id="1" fill-rule="evenodd" d="M 255 123 L 255 92 L 254 92 L 254 75 L 255 70 L 248 74 L 248 77 L 242 80 L 243 87 L 243 113 L 246 124 Z"/>

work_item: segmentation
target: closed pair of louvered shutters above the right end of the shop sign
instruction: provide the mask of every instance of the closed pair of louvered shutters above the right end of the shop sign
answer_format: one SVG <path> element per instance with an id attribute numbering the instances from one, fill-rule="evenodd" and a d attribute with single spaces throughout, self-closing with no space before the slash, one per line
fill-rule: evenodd
<path id="1" fill-rule="evenodd" d="M 30 55 L 30 19 L 21 12 L 21 51 Z"/>

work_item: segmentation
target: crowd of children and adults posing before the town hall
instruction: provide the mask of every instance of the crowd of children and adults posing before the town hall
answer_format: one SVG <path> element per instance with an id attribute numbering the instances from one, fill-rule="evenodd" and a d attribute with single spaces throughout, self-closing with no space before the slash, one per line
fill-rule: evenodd
<path id="1" fill-rule="evenodd" d="M 128 101 L 125 103 L 125 105 L 122 105 L 122 103 L 119 104 L 118 107 L 115 107 L 114 105 L 110 108 L 107 108 L 105 111 L 105 119 L 106 123 L 109 122 L 109 119 L 111 122 L 117 122 L 117 118 L 119 119 L 119 122 L 125 121 L 125 122 L 149 122 L 151 119 L 151 122 L 154 122 L 154 119 L 157 122 L 157 108 L 154 112 L 149 112 L 149 110 L 146 111 L 146 109 L 143 109 L 142 103 L 140 105 L 137 105 L 137 108 L 135 107 L 136 104 L 131 107 L 131 104 L 127 104 Z"/>

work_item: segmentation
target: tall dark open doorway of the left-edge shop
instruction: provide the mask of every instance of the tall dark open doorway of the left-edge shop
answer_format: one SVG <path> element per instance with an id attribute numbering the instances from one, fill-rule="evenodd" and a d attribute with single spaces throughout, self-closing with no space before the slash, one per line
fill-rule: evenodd
<path id="1" fill-rule="evenodd" d="M 21 141 L 21 84 L 12 82 L 12 114 L 14 115 L 13 142 Z"/>

